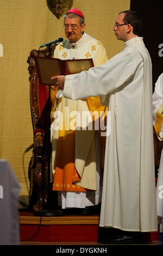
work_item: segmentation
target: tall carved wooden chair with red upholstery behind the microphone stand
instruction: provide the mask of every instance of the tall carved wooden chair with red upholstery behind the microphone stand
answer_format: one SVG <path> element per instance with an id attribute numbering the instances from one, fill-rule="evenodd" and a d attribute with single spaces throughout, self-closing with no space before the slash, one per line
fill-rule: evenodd
<path id="1" fill-rule="evenodd" d="M 33 155 L 29 164 L 29 208 L 34 212 L 46 208 L 48 196 L 47 166 L 47 125 L 48 125 L 48 88 L 39 84 L 35 56 L 52 57 L 57 44 L 32 50 L 27 63 L 29 71 L 30 109 L 33 124 Z"/>

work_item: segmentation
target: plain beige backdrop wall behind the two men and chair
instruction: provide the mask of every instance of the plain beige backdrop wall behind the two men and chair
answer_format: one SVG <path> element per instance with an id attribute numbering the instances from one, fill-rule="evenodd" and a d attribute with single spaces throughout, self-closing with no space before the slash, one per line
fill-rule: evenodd
<path id="1" fill-rule="evenodd" d="M 32 150 L 24 158 L 23 153 L 33 143 L 27 58 L 33 48 L 65 38 L 63 17 L 58 20 L 46 0 L 0 0 L 0 5 L 0 157 L 9 161 L 22 186 L 21 195 L 27 195 L 25 176 Z M 112 26 L 117 13 L 129 7 L 129 0 L 74 0 L 72 6 L 83 11 L 86 33 L 104 44 L 109 58 L 123 48 Z"/>

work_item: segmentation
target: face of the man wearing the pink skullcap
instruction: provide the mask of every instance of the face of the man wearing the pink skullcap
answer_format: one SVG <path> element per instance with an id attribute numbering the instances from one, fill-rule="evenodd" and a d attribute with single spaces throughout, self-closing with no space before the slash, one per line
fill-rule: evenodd
<path id="1" fill-rule="evenodd" d="M 71 19 L 67 17 L 64 25 L 66 38 L 68 38 L 70 42 L 77 42 L 80 38 L 82 38 L 85 23 L 81 25 L 79 17 L 74 17 Z"/>

